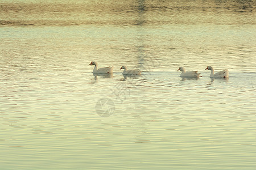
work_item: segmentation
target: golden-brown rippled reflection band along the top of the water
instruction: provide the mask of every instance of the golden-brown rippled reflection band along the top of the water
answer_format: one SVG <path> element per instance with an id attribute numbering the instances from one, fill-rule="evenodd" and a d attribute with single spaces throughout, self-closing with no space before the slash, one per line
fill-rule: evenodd
<path id="1" fill-rule="evenodd" d="M 0 11 L 1 25 L 255 24 L 255 1 L 21 1 Z"/>

